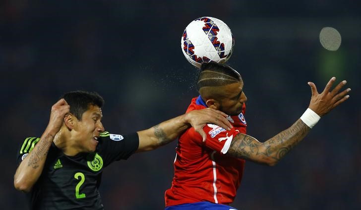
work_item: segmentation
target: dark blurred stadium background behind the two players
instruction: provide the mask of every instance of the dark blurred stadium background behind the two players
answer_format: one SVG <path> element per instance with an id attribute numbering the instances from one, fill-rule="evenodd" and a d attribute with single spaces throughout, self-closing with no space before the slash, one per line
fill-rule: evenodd
<path id="1" fill-rule="evenodd" d="M 361 206 L 361 3 L 355 0 L 3 0 L 0 2 L 0 207 L 27 209 L 13 188 L 16 150 L 40 136 L 50 108 L 72 90 L 99 92 L 111 133 L 146 129 L 182 114 L 195 69 L 183 57 L 185 26 L 201 16 L 228 24 L 236 39 L 229 64 L 244 80 L 248 134 L 265 141 L 307 108 L 307 81 L 331 76 L 351 98 L 324 116 L 278 165 L 248 161 L 232 206 L 240 210 L 358 209 Z M 334 27 L 338 51 L 320 45 Z M 159 210 L 171 186 L 173 142 L 104 170 L 108 210 Z"/>

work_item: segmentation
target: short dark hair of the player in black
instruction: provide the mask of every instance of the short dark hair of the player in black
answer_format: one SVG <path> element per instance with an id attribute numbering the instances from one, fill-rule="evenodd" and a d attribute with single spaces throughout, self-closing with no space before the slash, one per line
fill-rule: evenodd
<path id="1" fill-rule="evenodd" d="M 88 110 L 89 105 L 96 105 L 101 108 L 104 99 L 96 92 L 72 91 L 65 93 L 61 98 L 65 99 L 70 106 L 72 113 L 78 120 L 81 120 L 83 113 Z"/>

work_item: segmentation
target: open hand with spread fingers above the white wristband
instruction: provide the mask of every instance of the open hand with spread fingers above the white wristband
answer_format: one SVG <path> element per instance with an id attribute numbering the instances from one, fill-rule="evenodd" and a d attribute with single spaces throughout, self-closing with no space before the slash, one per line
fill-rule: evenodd
<path id="1" fill-rule="evenodd" d="M 312 92 L 311 101 L 308 108 L 312 109 L 319 116 L 327 114 L 333 108 L 345 102 L 350 97 L 349 95 L 346 95 L 348 92 L 351 91 L 350 88 L 339 93 L 341 88 L 346 85 L 346 80 L 340 82 L 333 90 L 331 90 L 331 87 L 335 80 L 336 77 L 332 77 L 327 83 L 323 92 L 320 94 L 317 92 L 316 85 L 313 82 L 307 83 L 311 87 Z"/>

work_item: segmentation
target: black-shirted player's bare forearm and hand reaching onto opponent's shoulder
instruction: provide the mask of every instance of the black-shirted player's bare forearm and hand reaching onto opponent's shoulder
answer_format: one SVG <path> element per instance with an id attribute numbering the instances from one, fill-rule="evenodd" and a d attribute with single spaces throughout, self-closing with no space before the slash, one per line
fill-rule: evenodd
<path id="1" fill-rule="evenodd" d="M 227 130 L 232 127 L 226 119 L 228 115 L 212 108 L 193 110 L 181 116 L 162 122 L 147 130 L 138 131 L 139 147 L 137 152 L 154 150 L 176 139 L 183 131 L 192 126 L 202 137 L 206 139 L 203 126 L 206 123 L 216 124 Z"/>

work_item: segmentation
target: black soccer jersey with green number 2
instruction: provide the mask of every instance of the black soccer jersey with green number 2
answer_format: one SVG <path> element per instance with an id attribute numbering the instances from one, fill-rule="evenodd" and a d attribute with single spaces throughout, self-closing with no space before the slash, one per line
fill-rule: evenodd
<path id="1" fill-rule="evenodd" d="M 18 164 L 34 148 L 39 138 L 26 138 L 18 151 Z M 103 168 L 127 159 L 137 149 L 137 133 L 101 133 L 95 153 L 66 156 L 53 143 L 44 169 L 28 194 L 32 210 L 102 210 L 98 191 Z"/>

